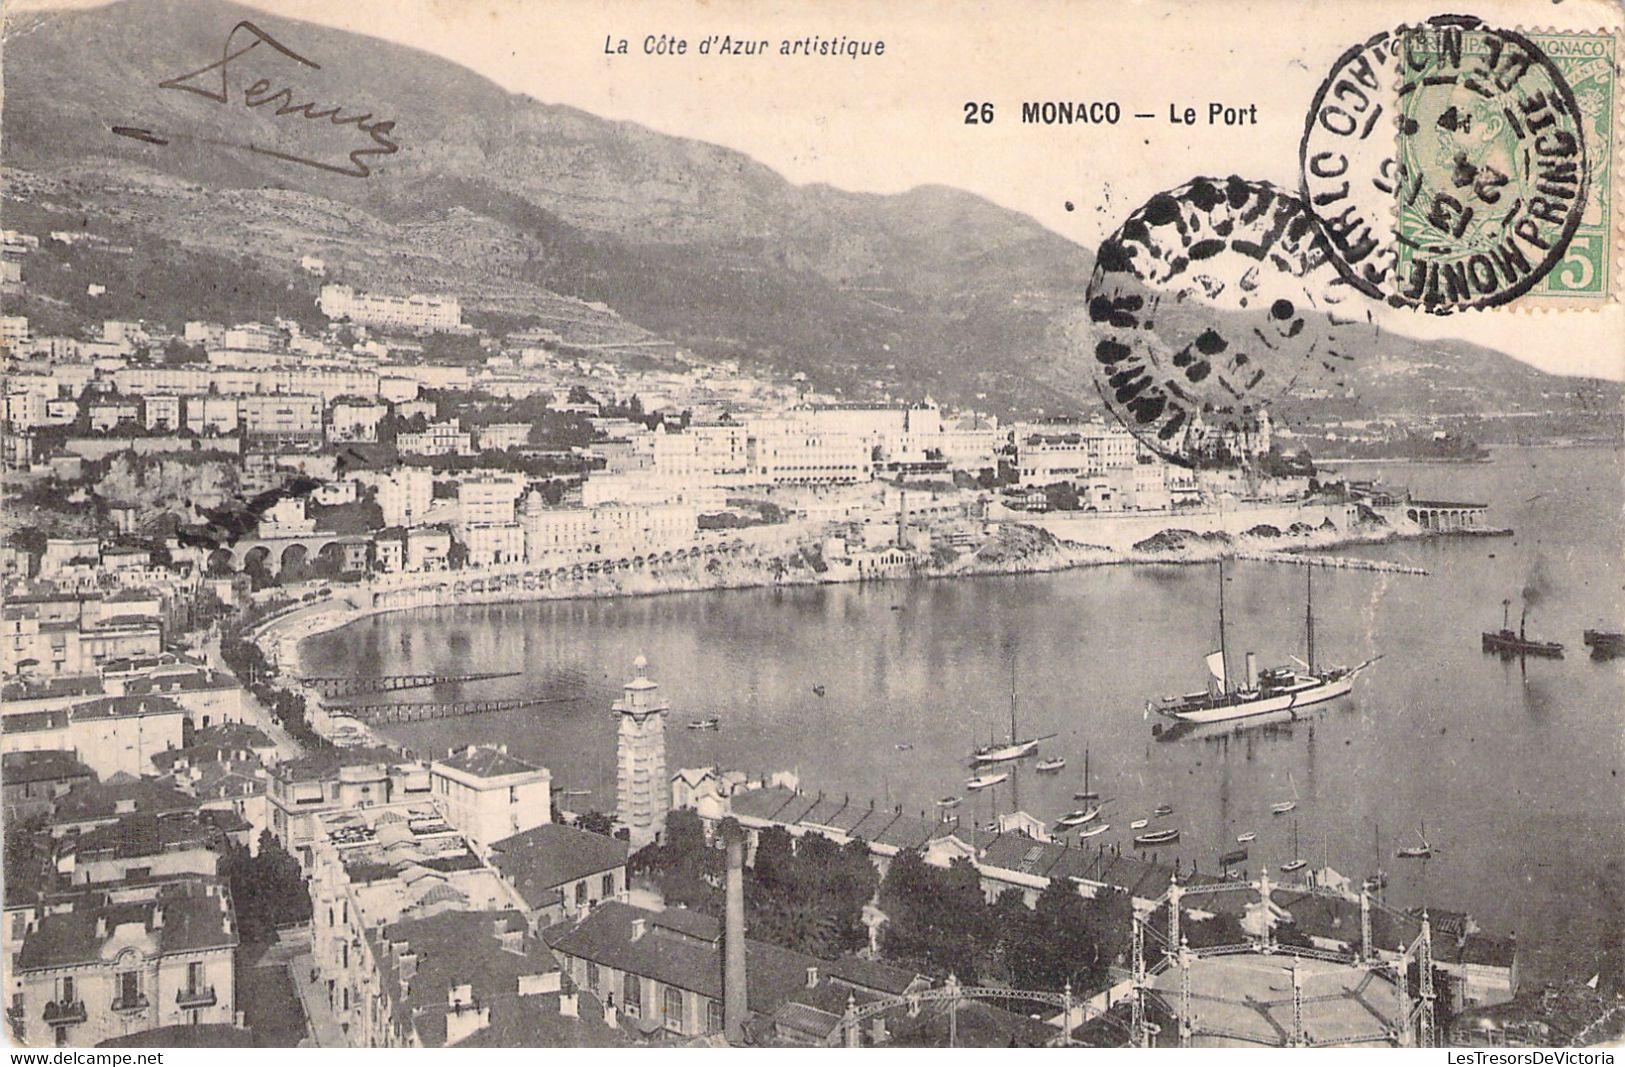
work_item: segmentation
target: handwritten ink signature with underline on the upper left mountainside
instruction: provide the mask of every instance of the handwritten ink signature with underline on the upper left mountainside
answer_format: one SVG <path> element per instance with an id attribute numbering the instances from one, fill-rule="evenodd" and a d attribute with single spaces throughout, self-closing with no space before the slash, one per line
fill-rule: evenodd
<path id="1" fill-rule="evenodd" d="M 244 42 L 239 37 L 239 34 L 247 34 L 249 37 L 252 37 L 252 41 Z M 206 101 L 213 101 L 214 104 L 231 104 L 232 102 L 231 83 L 229 83 L 231 65 L 236 60 L 242 58 L 244 55 L 255 52 L 255 49 L 260 49 L 260 45 L 266 45 L 273 52 L 281 54 L 283 57 L 310 70 L 322 70 L 320 63 L 299 55 L 288 45 L 276 41 L 276 37 L 273 37 L 271 34 L 265 32 L 254 23 L 244 19 L 236 26 L 232 26 L 231 32 L 226 34 L 226 44 L 221 47 L 221 55 L 218 60 L 214 60 L 208 67 L 200 67 L 198 70 L 193 70 L 190 73 L 177 75 L 166 81 L 159 81 L 158 88 L 192 93 L 195 96 L 202 96 Z M 263 55 L 263 52 L 260 55 Z M 214 75 L 216 71 L 219 73 L 219 88 L 213 86 L 211 75 Z M 271 159 L 281 159 L 284 162 L 294 162 L 299 166 L 314 167 L 317 171 L 327 171 L 328 174 L 341 174 L 344 177 L 356 177 L 356 179 L 370 177 L 372 169 L 367 166 L 367 158 L 393 156 L 395 153 L 400 151 L 400 145 L 395 143 L 392 136 L 395 132 L 395 120 L 392 119 L 374 120 L 370 112 L 346 115 L 343 104 L 335 104 L 332 107 L 317 107 L 314 101 L 296 104 L 294 96 L 296 94 L 292 86 L 276 86 L 268 78 L 260 78 L 254 84 L 242 89 L 240 102 L 244 107 L 250 109 L 260 109 L 268 104 L 275 104 L 276 107 L 273 114 L 278 119 L 288 115 L 297 115 L 299 119 L 304 119 L 307 122 L 320 122 L 325 119 L 330 125 L 335 127 L 353 125 L 361 133 L 366 133 L 370 143 L 366 148 L 356 148 L 349 153 L 348 156 L 349 166 L 338 162 L 323 162 L 320 159 L 310 159 L 307 156 L 296 156 L 292 153 L 266 148 L 263 145 L 226 143 L 226 141 L 213 141 L 213 143 L 223 143 L 228 148 L 240 148 L 250 153 L 257 153 L 260 156 L 270 156 Z M 151 130 L 143 130 L 140 127 L 112 127 L 112 132 L 117 133 L 119 136 L 128 136 L 132 140 L 143 141 L 146 145 L 169 145 L 169 141 L 172 140 L 159 133 L 153 133 Z"/>

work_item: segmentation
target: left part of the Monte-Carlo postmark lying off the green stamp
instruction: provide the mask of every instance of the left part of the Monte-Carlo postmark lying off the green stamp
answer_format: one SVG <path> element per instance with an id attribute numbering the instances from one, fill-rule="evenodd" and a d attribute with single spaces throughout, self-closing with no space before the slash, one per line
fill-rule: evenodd
<path id="1" fill-rule="evenodd" d="M 1394 276 L 1394 58 L 1399 31 L 1350 47 L 1315 91 L 1298 172 L 1303 203 L 1331 242 L 1332 266 L 1368 297 Z"/>

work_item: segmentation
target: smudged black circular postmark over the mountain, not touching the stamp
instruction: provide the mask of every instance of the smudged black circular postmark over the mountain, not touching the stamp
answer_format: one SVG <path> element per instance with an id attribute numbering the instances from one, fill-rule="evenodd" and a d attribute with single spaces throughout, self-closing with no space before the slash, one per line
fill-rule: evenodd
<path id="1" fill-rule="evenodd" d="M 1336 307 L 1352 296 L 1302 200 L 1194 179 L 1100 245 L 1087 291 L 1095 388 L 1164 458 L 1235 458 L 1289 390 L 1342 385 L 1352 320 Z"/>

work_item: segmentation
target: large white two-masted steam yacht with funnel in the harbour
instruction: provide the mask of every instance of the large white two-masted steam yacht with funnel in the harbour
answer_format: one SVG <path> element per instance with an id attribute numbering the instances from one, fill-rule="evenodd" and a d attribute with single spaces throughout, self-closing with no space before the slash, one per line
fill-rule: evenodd
<path id="1" fill-rule="evenodd" d="M 1246 676 L 1230 677 L 1230 663 L 1225 643 L 1224 619 L 1224 560 L 1219 560 L 1219 651 L 1209 653 L 1207 692 L 1185 693 L 1183 697 L 1160 697 L 1146 703 L 1147 716 L 1155 711 L 1180 723 L 1225 723 L 1230 719 L 1251 718 L 1254 715 L 1271 715 L 1287 711 L 1297 715 L 1300 708 L 1310 708 L 1328 700 L 1347 695 L 1354 689 L 1354 679 L 1365 667 L 1376 663 L 1367 659 L 1357 667 L 1316 667 L 1315 666 L 1315 570 L 1308 573 L 1308 607 L 1306 637 L 1308 663 L 1298 661 L 1298 667 L 1266 667 L 1258 669 L 1258 658 L 1246 653 Z"/>

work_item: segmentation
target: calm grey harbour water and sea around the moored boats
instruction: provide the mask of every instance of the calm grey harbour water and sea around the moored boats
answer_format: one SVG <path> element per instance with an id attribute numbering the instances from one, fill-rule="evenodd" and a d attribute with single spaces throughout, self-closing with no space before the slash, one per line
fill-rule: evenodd
<path id="1" fill-rule="evenodd" d="M 315 672 L 522 671 L 439 697 L 569 697 L 523 711 L 396 728 L 419 754 L 505 742 L 614 806 L 609 703 L 644 653 L 671 700 L 671 768 L 796 770 L 804 789 L 855 804 L 933 810 L 965 794 L 964 757 L 1009 731 L 1011 664 L 1020 732 L 1055 734 L 1011 781 L 965 794 L 988 822 L 1077 807 L 1089 752 L 1112 830 L 1089 848 L 1129 848 L 1134 819 L 1183 832 L 1162 857 L 1207 870 L 1253 830 L 1250 872 L 1302 853 L 1346 874 L 1378 864 L 1389 901 L 1471 911 L 1528 945 L 1591 952 L 1625 944 L 1625 659 L 1594 663 L 1581 630 L 1625 619 L 1622 453 L 1500 450 L 1487 464 L 1360 464 L 1357 477 L 1417 495 L 1492 503 L 1511 538 L 1342 549 L 1425 567 L 1428 577 L 1318 572 L 1321 663 L 1381 661 L 1354 695 L 1290 726 L 1154 741 L 1147 697 L 1202 685 L 1217 640 L 1214 567 L 1102 567 L 1055 575 L 868 586 L 684 593 L 432 609 L 367 619 L 304 646 Z M 1303 570 L 1225 568 L 1232 669 L 1303 656 Z M 1479 650 L 1502 601 L 1529 590 L 1529 632 L 1562 661 L 1503 663 Z M 405 693 L 431 698 L 432 690 Z M 722 729 L 686 729 L 718 715 Z M 1297 799 L 1289 815 L 1269 806 Z M 1432 861 L 1398 861 L 1425 827 Z M 1294 838 L 1297 845 L 1294 845 Z M 1552 953 L 1531 953 L 1532 973 Z"/>

